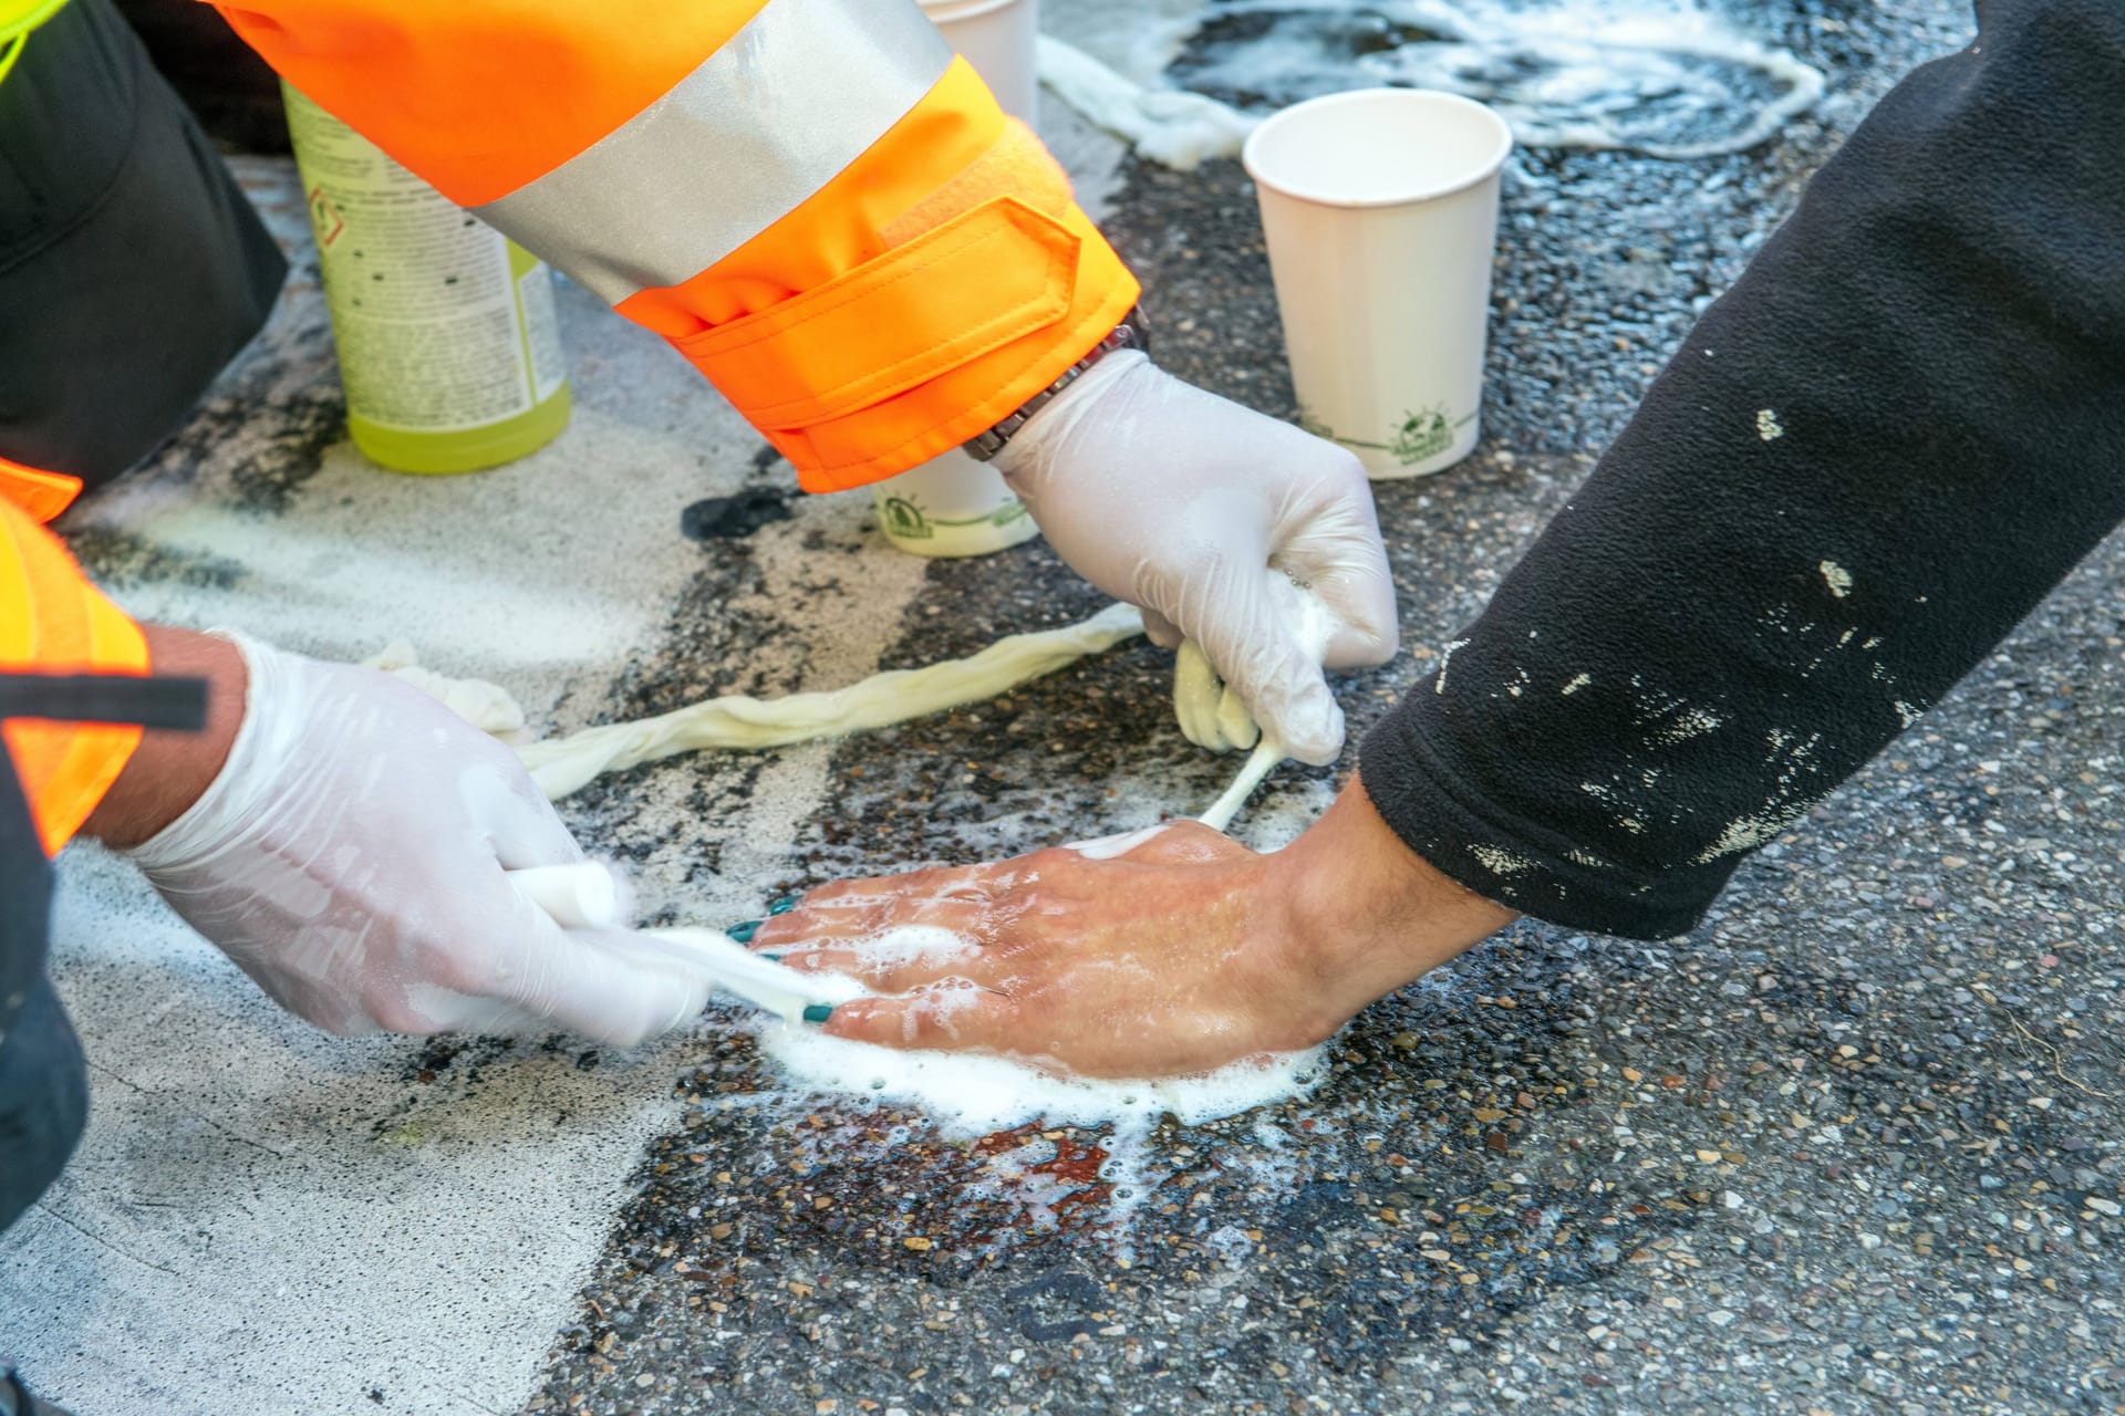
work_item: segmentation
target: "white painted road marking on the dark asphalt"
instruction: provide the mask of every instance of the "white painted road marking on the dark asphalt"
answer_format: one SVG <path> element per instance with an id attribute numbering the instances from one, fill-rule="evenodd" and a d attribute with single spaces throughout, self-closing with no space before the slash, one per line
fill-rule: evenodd
<path id="1" fill-rule="evenodd" d="M 1050 132 L 1096 214 L 1118 144 L 1067 113 Z M 238 166 L 270 219 L 306 231 L 291 168 Z M 574 425 L 521 463 L 402 478 L 342 444 L 261 514 L 240 473 L 287 433 L 268 408 L 198 465 L 136 476 L 68 526 L 142 548 L 117 586 L 136 616 L 342 660 L 404 637 L 440 673 L 508 688 L 542 732 L 606 718 L 629 667 L 684 643 L 672 616 L 701 554 L 678 535 L 682 507 L 756 484 L 761 444 L 661 340 L 567 284 L 563 306 Z M 291 287 L 266 340 L 291 352 L 266 376 L 251 367 L 249 397 L 332 378 L 304 342 L 321 321 L 317 291 Z M 793 512 L 754 533 L 756 590 L 727 607 L 776 624 L 746 669 L 767 690 L 873 673 L 926 563 L 871 546 L 822 577 L 808 539 L 856 543 L 869 497 Z M 238 573 L 191 573 L 202 563 Z M 759 775 L 718 819 L 693 798 L 714 769 L 633 781 L 614 830 L 640 836 L 644 900 L 684 900 L 699 923 L 754 913 L 827 809 L 831 754 L 748 764 Z M 676 1121 L 672 1083 L 693 1057 L 676 1038 L 584 1070 L 578 1047 L 482 1042 L 476 1064 L 421 1083 L 423 1042 L 338 1040 L 280 1013 L 91 845 L 60 862 L 53 981 L 94 1106 L 72 1165 L 0 1244 L 0 1333 L 36 1391 L 76 1412 L 518 1410 L 646 1142 Z"/>

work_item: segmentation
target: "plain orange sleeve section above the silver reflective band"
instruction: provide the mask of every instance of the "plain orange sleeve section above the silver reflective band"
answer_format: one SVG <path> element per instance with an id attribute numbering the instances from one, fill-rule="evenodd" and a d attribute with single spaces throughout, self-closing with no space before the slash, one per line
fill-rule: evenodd
<path id="1" fill-rule="evenodd" d="M 657 102 L 763 4 L 251 0 L 215 8 L 327 113 L 459 206 L 480 206 Z"/>

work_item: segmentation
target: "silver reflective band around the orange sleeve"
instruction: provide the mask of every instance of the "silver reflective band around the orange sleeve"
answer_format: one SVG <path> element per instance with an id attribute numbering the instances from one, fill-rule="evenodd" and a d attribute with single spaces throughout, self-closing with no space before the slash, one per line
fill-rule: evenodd
<path id="1" fill-rule="evenodd" d="M 620 304 L 697 276 L 786 217 L 950 64 L 916 0 L 767 0 L 623 127 L 472 210 Z"/>

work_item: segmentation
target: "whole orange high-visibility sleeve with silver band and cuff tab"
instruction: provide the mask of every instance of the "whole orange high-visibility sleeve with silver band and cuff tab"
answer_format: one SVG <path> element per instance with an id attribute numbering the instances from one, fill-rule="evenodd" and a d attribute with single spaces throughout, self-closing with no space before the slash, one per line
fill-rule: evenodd
<path id="1" fill-rule="evenodd" d="M 289 83 L 665 335 L 812 490 L 905 471 L 1137 282 L 916 0 L 249 0 Z"/>

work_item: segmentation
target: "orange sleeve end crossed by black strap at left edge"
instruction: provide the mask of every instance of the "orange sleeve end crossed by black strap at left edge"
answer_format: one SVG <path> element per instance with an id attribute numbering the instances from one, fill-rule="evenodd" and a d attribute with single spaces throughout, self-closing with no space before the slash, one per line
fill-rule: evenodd
<path id="1" fill-rule="evenodd" d="M 0 495 L 0 673 L 147 673 L 147 641 L 17 501 Z M 0 724 L 45 853 L 96 811 L 140 728 L 15 718 Z"/>

